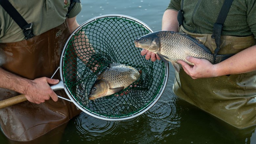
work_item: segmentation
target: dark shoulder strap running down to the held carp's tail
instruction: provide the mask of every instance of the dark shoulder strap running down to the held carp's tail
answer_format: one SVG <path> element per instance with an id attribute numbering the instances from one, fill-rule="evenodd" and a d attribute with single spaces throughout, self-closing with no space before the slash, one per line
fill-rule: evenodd
<path id="1" fill-rule="evenodd" d="M 221 11 L 217 18 L 217 21 L 213 26 L 212 38 L 215 39 L 215 43 L 216 43 L 216 49 L 214 50 L 213 61 L 215 61 L 217 53 L 220 50 L 221 32 L 222 32 L 223 24 L 226 20 L 227 13 L 231 7 L 232 2 L 233 2 L 233 0 L 225 0 L 224 1 L 224 4 L 222 5 Z"/>

